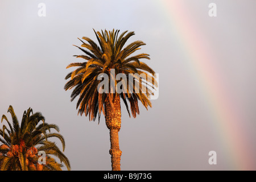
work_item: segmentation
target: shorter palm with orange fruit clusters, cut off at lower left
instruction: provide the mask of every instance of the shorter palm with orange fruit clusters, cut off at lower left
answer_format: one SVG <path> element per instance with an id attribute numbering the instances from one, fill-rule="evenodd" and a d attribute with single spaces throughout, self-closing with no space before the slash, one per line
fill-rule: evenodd
<path id="1" fill-rule="evenodd" d="M 33 114 L 31 108 L 25 110 L 22 122 L 19 125 L 18 118 L 14 113 L 13 106 L 8 111 L 13 119 L 13 126 L 3 114 L 1 122 L 5 120 L 9 125 L 3 125 L 0 129 L 0 170 L 19 170 L 19 171 L 61 171 L 65 164 L 70 170 L 68 158 L 60 151 L 55 142 L 48 138 L 58 138 L 65 149 L 65 140 L 59 133 L 51 133 L 51 129 L 59 132 L 59 127 L 54 124 L 44 122 L 44 117 L 40 112 Z M 42 121 L 42 123 L 39 123 Z M 49 132 L 47 132 L 49 131 Z M 45 156 L 40 156 L 45 154 Z M 44 157 L 44 159 L 43 159 Z M 60 159 L 58 163 L 55 158 Z M 42 161 L 43 160 L 43 161 Z"/>

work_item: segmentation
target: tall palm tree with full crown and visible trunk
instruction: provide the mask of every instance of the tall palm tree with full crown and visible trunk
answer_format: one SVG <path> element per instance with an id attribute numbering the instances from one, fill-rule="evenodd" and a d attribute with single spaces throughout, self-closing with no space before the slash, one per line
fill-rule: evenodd
<path id="1" fill-rule="evenodd" d="M 76 47 L 84 52 L 85 55 L 75 55 L 75 57 L 80 57 L 85 61 L 68 65 L 67 68 L 78 68 L 65 77 L 65 80 L 68 78 L 70 80 L 65 84 L 64 89 L 74 88 L 71 94 L 71 101 L 79 96 L 76 105 L 76 109 L 79 108 L 78 114 L 85 113 L 85 116 L 89 114 L 90 121 L 95 121 L 98 115 L 98 122 L 100 122 L 101 112 L 105 115 L 106 126 L 110 130 L 111 147 L 109 153 L 112 156 L 112 170 L 120 170 L 122 154 L 118 140 L 118 131 L 121 129 L 120 98 L 125 103 L 129 116 L 128 102 L 130 102 L 131 114 L 134 118 L 136 114 L 139 114 L 138 101 L 141 101 L 146 109 L 148 106 L 151 107 L 150 95 L 153 94 L 152 89 L 155 89 L 154 86 L 157 86 L 155 77 L 151 75 L 155 72 L 147 64 L 140 61 L 141 59 L 149 60 L 148 54 L 140 53 L 130 56 L 138 49 L 141 49 L 139 47 L 146 45 L 145 43 L 135 41 L 123 48 L 127 40 L 134 35 L 134 32 L 127 33 L 125 31 L 119 37 L 119 30 L 109 32 L 106 30 L 101 32 L 94 31 L 94 33 L 99 45 L 86 37 L 82 39 L 86 40 L 87 43 L 79 39 L 82 42 L 81 47 L 86 49 Z M 122 73 L 125 77 L 120 78 L 120 80 L 114 79 L 118 73 Z M 114 80 L 114 87 L 113 85 L 100 86 L 102 74 L 108 76 L 107 78 L 104 77 L 104 81 L 111 83 Z M 152 85 L 153 83 L 154 85 Z M 118 85 L 121 85 L 122 92 L 115 92 Z M 101 92 L 102 90 L 107 92 Z"/>

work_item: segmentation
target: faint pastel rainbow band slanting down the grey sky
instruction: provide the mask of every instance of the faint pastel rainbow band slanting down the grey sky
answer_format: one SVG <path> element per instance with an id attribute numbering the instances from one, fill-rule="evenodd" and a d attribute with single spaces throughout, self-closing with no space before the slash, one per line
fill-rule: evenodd
<path id="1" fill-rule="evenodd" d="M 189 10 L 183 1 L 163 0 L 158 1 L 157 6 L 168 18 L 170 28 L 175 30 L 177 42 L 187 56 L 188 68 L 200 83 L 214 120 L 213 129 L 226 152 L 228 170 L 255 170 L 255 154 L 250 148 L 254 141 L 247 138 L 239 103 L 230 96 L 232 90 L 224 84 L 225 75 L 214 64 L 216 58 L 200 25 L 188 14 Z"/>

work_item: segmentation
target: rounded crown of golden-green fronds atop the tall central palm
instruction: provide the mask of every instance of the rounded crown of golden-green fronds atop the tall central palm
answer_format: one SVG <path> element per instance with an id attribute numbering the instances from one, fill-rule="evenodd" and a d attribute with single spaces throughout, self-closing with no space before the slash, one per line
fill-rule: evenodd
<path id="1" fill-rule="evenodd" d="M 155 72 L 148 67 L 147 64 L 140 61 L 141 59 L 150 59 L 149 55 L 140 53 L 135 56 L 130 56 L 138 49 L 141 49 L 139 47 L 145 45 L 145 43 L 135 41 L 123 48 L 127 39 L 133 36 L 134 32 L 127 33 L 127 31 L 125 31 L 119 37 L 119 30 L 109 32 L 105 30 L 101 31 L 101 33 L 94 31 L 94 33 L 96 34 L 99 46 L 89 38 L 82 37 L 87 43 L 79 39 L 82 42 L 81 47 L 85 47 L 89 51 L 76 46 L 84 52 L 85 55 L 75 56 L 85 59 L 85 62 L 71 63 L 68 65 L 67 68 L 78 68 L 65 77 L 66 80 L 68 78 L 70 78 L 70 80 L 65 84 L 64 89 L 68 90 L 75 87 L 71 94 L 71 101 L 79 96 L 76 106 L 79 108 L 79 113 L 81 115 L 83 113 L 85 113 L 85 115 L 89 114 L 90 120 L 95 120 L 98 113 L 98 119 L 100 121 L 100 114 L 101 111 L 104 113 L 106 99 L 109 98 L 110 104 L 112 104 L 114 96 L 118 93 L 98 93 L 97 88 L 100 80 L 97 78 L 101 73 L 105 73 L 108 75 L 110 81 L 111 77 L 115 77 L 115 75 L 112 75 L 110 72 L 111 69 L 114 69 L 116 74 L 123 73 L 127 77 L 126 82 L 120 80 L 123 82 L 122 90 L 125 92 L 119 94 L 119 96 L 125 103 L 129 116 L 130 111 L 127 101 L 130 102 L 131 114 L 135 118 L 136 114 L 139 114 L 138 100 L 142 102 L 146 109 L 148 106 L 151 107 L 149 98 L 150 95 L 153 94 L 152 89 L 155 89 L 154 86 L 157 86 L 154 76 L 151 76 L 151 74 Z M 138 73 L 139 76 L 134 73 Z M 136 85 L 135 82 L 139 82 L 139 84 L 137 84 L 139 86 L 129 88 L 128 85 L 129 82 L 131 82 L 131 79 L 129 80 L 130 77 L 133 78 L 133 85 Z M 154 83 L 154 85 L 152 85 L 152 83 Z M 117 84 L 118 81 L 115 80 L 115 86 Z"/>

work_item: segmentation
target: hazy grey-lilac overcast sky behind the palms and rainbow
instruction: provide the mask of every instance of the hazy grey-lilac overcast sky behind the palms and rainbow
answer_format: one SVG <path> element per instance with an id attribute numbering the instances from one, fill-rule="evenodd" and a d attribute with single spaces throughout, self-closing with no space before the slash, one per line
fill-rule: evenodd
<path id="1" fill-rule="evenodd" d="M 105 119 L 101 117 L 98 125 L 85 115 L 77 115 L 77 100 L 70 102 L 71 90 L 63 89 L 64 77 L 71 71 L 65 67 L 81 61 L 73 57 L 81 53 L 72 46 L 80 46 L 77 38 L 97 40 L 93 28 L 135 31 L 129 42 L 142 40 L 147 44 L 141 52 L 150 54 L 151 60 L 145 63 L 159 73 L 159 98 L 152 100 L 148 111 L 141 105 L 135 119 L 129 118 L 121 104 L 121 169 L 255 170 L 256 1 L 169 2 L 1 0 L 0 114 L 10 118 L 9 105 L 13 105 L 19 121 L 28 107 L 42 112 L 46 122 L 60 127 L 66 142 L 64 154 L 73 170 L 111 170 Z M 216 17 L 208 14 L 211 2 L 217 5 Z M 39 3 L 46 5 L 46 16 L 38 15 Z M 175 8 L 177 11 L 169 12 Z M 188 31 L 179 27 L 184 20 L 190 20 L 196 28 L 191 30 L 200 34 L 184 35 Z M 193 37 L 214 55 L 214 61 L 212 57 L 204 60 L 215 65 L 213 69 L 197 74 L 200 69 L 191 66 L 196 57 L 189 56 L 189 50 L 200 51 L 196 42 L 191 49 L 187 47 L 186 39 Z M 205 82 L 201 81 L 204 73 Z M 212 84 L 207 76 L 220 77 L 216 79 L 225 89 L 219 89 L 231 99 L 213 104 L 210 98 L 219 97 L 214 90 L 205 94 L 204 86 Z M 227 107 L 216 117 L 214 110 L 222 105 Z M 225 109 L 229 106 L 232 109 L 228 113 Z M 233 113 L 239 116 L 236 122 L 225 117 Z M 242 152 L 234 151 L 240 147 Z M 216 165 L 208 163 L 212 150 L 217 153 Z"/>

